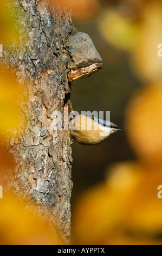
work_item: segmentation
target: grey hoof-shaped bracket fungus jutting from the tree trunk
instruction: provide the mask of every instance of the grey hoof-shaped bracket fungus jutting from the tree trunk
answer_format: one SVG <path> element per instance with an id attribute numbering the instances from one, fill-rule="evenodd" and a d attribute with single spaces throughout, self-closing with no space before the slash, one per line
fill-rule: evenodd
<path id="1" fill-rule="evenodd" d="M 74 81 L 82 76 L 89 76 L 102 68 L 102 58 L 88 34 L 77 32 L 70 36 L 68 51 L 69 81 Z"/>

